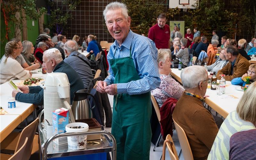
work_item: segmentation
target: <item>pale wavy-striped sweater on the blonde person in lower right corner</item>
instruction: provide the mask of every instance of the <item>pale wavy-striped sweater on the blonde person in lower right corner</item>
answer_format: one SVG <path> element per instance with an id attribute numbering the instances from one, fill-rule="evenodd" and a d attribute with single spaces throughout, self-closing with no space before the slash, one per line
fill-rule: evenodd
<path id="1" fill-rule="evenodd" d="M 251 129 L 256 127 L 251 122 L 240 119 L 236 111 L 229 113 L 214 140 L 208 160 L 228 159 L 230 137 L 236 132 Z"/>

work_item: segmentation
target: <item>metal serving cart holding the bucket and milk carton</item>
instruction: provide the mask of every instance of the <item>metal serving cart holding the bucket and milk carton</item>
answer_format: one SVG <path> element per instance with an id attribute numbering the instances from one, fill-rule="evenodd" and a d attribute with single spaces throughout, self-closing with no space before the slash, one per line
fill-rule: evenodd
<path id="1" fill-rule="evenodd" d="M 39 154 L 40 158 L 43 160 L 62 158 L 69 156 L 79 156 L 79 155 L 89 155 L 89 154 L 100 154 L 106 152 L 112 152 L 112 160 L 116 160 L 116 140 L 113 135 L 108 131 L 88 131 L 88 132 L 70 132 L 56 134 L 46 138 L 46 133 L 44 131 L 44 123 L 42 123 L 42 116 L 44 110 L 39 114 L 39 124 L 38 124 L 38 134 L 39 134 Z M 56 138 L 78 136 L 78 135 L 93 135 L 101 134 L 100 140 L 93 140 L 97 143 L 89 143 L 84 149 L 71 150 L 68 149 L 68 144 L 57 145 L 53 142 Z"/>

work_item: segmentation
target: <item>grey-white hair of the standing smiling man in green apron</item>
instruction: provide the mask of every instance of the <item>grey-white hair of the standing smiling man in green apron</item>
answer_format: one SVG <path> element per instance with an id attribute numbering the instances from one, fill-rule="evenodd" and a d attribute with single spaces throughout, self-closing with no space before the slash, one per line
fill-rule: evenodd
<path id="1" fill-rule="evenodd" d="M 107 18 L 106 18 L 107 12 L 118 10 L 118 9 L 122 10 L 122 13 L 126 19 L 128 18 L 128 10 L 127 10 L 126 5 L 123 3 L 120 3 L 120 2 L 112 2 L 112 3 L 108 4 L 106 6 L 105 10 L 103 11 L 103 16 L 104 16 L 106 24 L 107 24 Z"/>

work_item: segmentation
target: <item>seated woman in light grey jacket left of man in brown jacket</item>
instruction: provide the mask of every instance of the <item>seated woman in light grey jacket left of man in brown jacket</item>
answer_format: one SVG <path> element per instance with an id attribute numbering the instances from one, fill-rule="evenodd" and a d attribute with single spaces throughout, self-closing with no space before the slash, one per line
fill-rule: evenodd
<path id="1" fill-rule="evenodd" d="M 229 61 L 226 60 L 226 57 L 224 55 L 226 52 L 227 49 L 225 48 L 220 50 L 220 55 L 218 56 L 217 60 L 212 65 L 207 66 L 208 71 L 218 73 L 220 69 L 222 69 L 224 66 L 228 64 Z"/>

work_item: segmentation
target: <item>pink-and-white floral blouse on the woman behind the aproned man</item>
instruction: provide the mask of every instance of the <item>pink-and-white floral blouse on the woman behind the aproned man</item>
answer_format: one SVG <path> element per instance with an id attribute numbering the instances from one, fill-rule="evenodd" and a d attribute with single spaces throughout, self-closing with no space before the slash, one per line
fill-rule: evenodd
<path id="1" fill-rule="evenodd" d="M 155 97 L 156 102 L 161 108 L 164 102 L 172 97 L 179 100 L 184 88 L 178 82 L 176 82 L 171 75 L 161 75 L 161 84 L 155 90 L 151 91 L 151 94 Z"/>

